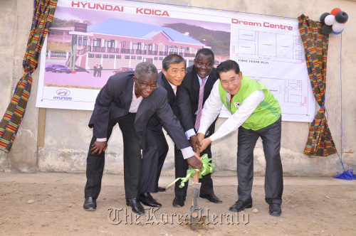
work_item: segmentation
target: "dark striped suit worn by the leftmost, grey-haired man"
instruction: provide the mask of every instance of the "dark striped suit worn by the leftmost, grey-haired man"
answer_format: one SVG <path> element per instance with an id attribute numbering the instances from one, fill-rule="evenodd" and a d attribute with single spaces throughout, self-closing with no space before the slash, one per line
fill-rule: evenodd
<path id="1" fill-rule="evenodd" d="M 162 87 L 143 98 L 137 113 L 129 113 L 132 102 L 133 73 L 112 75 L 100 90 L 90 118 L 93 127 L 87 158 L 87 183 L 85 198 L 98 198 L 105 163 L 105 152 L 97 156 L 91 154 L 91 146 L 97 138 L 110 138 L 112 128 L 119 124 L 124 143 L 124 180 L 126 198 L 137 198 L 141 173 L 141 149 L 145 149 L 145 132 L 149 119 L 157 114 L 164 129 L 172 134 L 172 140 L 180 149 L 189 146 L 179 120 L 167 103 L 167 91 Z"/>

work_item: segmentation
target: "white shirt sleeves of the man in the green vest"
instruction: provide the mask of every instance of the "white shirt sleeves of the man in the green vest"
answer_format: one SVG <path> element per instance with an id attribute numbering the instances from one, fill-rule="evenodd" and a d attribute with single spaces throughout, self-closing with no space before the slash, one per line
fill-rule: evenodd
<path id="1" fill-rule="evenodd" d="M 264 100 L 264 98 L 265 94 L 263 90 L 256 90 L 252 92 L 251 95 L 246 97 L 239 109 L 237 109 L 237 111 L 209 137 L 211 141 L 221 139 L 223 136 L 239 129 L 241 124 L 244 124 L 246 119 L 250 117 L 252 112 L 257 108 L 258 104 Z M 219 95 L 219 80 L 216 80 L 214 87 L 211 90 L 208 99 L 205 101 L 204 107 L 201 111 L 201 121 L 198 133 L 205 134 L 211 123 L 214 122 L 216 117 L 219 115 L 222 105 L 223 103 L 221 102 Z"/>

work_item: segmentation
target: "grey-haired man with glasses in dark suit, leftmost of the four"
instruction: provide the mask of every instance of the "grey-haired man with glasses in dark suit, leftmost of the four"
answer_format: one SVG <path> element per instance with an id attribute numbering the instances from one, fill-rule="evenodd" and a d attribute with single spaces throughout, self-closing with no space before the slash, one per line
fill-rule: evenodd
<path id="1" fill-rule="evenodd" d="M 157 86 L 157 68 L 151 63 L 139 63 L 133 73 L 112 75 L 100 90 L 90 118 L 93 127 L 87 158 L 87 183 L 85 185 L 85 210 L 95 210 L 100 193 L 105 163 L 105 150 L 115 124 L 119 124 L 124 143 L 124 181 L 126 205 L 139 215 L 145 209 L 138 200 L 141 173 L 141 148 L 145 149 L 147 122 L 157 114 L 164 129 L 172 134 L 175 144 L 182 150 L 190 148 L 179 120 L 167 103 L 167 91 Z M 190 148 L 191 149 L 191 148 Z M 195 154 L 196 155 L 196 154 Z M 201 168 L 194 151 L 184 151 L 190 166 Z"/>

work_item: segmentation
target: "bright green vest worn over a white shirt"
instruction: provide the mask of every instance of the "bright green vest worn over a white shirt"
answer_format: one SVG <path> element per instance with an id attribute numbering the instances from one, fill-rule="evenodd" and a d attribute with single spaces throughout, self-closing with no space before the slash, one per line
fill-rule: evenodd
<path id="1" fill-rule="evenodd" d="M 263 90 L 265 98 L 258 104 L 244 124 L 241 125 L 245 129 L 258 130 L 276 122 L 279 117 L 281 117 L 281 107 L 279 106 L 278 101 L 262 82 L 243 76 L 243 79 L 241 80 L 241 88 L 237 95 L 234 95 L 232 98 L 230 105 L 230 96 L 227 96 L 227 92 L 224 90 L 224 87 L 222 87 L 221 81 L 219 80 L 219 95 L 221 102 L 224 103 L 226 109 L 228 109 L 231 114 L 234 114 L 241 104 L 243 104 L 246 97 L 256 90 Z"/>

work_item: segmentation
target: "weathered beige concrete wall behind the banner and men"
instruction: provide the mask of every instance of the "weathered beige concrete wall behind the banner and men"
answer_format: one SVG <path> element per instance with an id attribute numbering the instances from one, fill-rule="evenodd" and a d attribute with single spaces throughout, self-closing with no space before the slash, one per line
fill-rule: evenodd
<path id="1" fill-rule="evenodd" d="M 157 3 L 177 4 L 177 1 L 157 0 Z M 356 1 L 337 0 L 290 0 L 290 1 L 213 1 L 184 0 L 184 6 L 198 6 L 211 9 L 226 9 L 297 18 L 301 14 L 318 20 L 324 12 L 340 7 L 350 16 L 342 33 L 342 150 L 341 150 L 341 109 L 340 109 L 340 46 L 341 37 L 331 36 L 328 52 L 328 82 L 326 107 L 328 124 L 337 150 L 342 154 L 345 168 L 356 168 L 355 159 L 355 117 L 356 97 L 354 92 L 355 74 L 355 16 Z M 14 92 L 16 82 L 23 73 L 22 58 L 26 49 L 31 26 L 33 2 L 28 0 L 0 0 L 0 57 L 1 86 L 0 113 L 4 114 Z M 38 70 L 33 73 L 33 90 L 26 109 L 26 115 L 9 154 L 0 151 L 0 171 L 21 172 L 85 172 L 85 158 L 91 137 L 88 120 L 91 112 L 47 109 L 45 145 L 37 146 L 38 108 L 35 107 Z M 224 122 L 220 118 L 219 127 Z M 308 137 L 308 123 L 283 122 L 282 161 L 286 176 L 334 176 L 343 171 L 337 154 L 328 157 L 310 157 L 303 154 Z M 213 144 L 213 155 L 218 159 L 216 174 L 236 175 L 237 132 Z M 164 175 L 174 174 L 173 143 L 169 139 L 170 151 L 164 164 Z M 256 174 L 263 174 L 265 161 L 261 141 L 255 148 Z M 109 141 L 105 163 L 106 173 L 122 173 L 122 137 L 117 127 Z"/>

